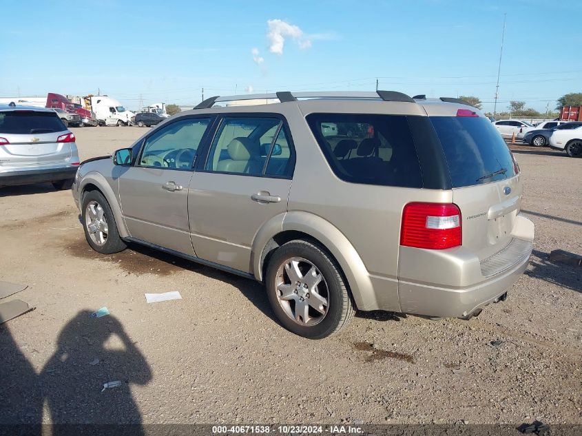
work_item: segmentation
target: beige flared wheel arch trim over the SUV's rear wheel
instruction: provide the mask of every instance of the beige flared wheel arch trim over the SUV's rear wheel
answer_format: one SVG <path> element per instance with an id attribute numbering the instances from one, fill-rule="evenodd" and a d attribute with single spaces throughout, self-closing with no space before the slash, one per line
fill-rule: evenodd
<path id="1" fill-rule="evenodd" d="M 296 239 L 311 240 L 331 254 L 342 269 L 357 309 L 377 307 L 370 276 L 351 242 L 331 222 L 309 212 L 280 214 L 260 229 L 251 254 L 255 278 L 263 281 L 269 256 L 284 243 Z"/>

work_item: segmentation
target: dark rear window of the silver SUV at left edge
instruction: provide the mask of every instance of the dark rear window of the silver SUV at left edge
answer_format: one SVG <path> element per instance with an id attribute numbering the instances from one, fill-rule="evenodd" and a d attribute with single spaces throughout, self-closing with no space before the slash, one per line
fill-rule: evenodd
<path id="1" fill-rule="evenodd" d="M 66 129 L 55 112 L 0 112 L 0 133 L 51 133 L 63 132 Z"/>

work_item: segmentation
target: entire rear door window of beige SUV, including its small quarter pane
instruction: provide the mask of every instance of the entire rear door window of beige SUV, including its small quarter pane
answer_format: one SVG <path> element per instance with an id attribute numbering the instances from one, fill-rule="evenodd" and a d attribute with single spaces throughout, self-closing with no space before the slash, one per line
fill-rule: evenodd
<path id="1" fill-rule="evenodd" d="M 293 152 L 280 118 L 225 117 L 205 170 L 248 176 L 289 176 Z"/>

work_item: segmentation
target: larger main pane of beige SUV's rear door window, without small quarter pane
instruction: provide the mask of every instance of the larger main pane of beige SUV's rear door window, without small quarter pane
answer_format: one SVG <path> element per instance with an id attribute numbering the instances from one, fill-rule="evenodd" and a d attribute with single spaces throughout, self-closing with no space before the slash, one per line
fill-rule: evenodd
<path id="1" fill-rule="evenodd" d="M 267 150 L 270 152 L 273 135 L 280 124 L 279 118 L 225 117 L 210 148 L 205 169 L 261 176 Z"/>

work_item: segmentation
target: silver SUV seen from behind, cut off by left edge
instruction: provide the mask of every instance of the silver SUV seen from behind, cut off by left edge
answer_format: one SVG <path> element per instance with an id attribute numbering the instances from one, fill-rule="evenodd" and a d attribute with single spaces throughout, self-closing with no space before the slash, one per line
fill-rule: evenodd
<path id="1" fill-rule="evenodd" d="M 79 152 L 52 109 L 0 105 L 0 187 L 52 182 L 70 189 Z"/>

